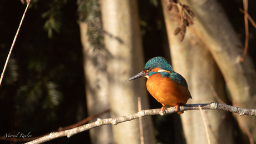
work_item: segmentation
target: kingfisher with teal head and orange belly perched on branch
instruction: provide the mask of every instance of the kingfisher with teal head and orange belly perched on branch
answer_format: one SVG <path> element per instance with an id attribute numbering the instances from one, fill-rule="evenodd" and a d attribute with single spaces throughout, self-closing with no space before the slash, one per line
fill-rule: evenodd
<path id="1" fill-rule="evenodd" d="M 185 105 L 189 98 L 192 98 L 189 92 L 188 83 L 179 73 L 173 71 L 173 67 L 164 57 L 154 57 L 149 59 L 142 72 L 127 79 L 126 81 L 135 80 L 136 78 L 146 77 L 146 87 L 150 95 L 156 101 L 160 102 L 164 112 L 165 106 L 178 107 Z M 178 112 L 183 113 L 184 111 Z"/>

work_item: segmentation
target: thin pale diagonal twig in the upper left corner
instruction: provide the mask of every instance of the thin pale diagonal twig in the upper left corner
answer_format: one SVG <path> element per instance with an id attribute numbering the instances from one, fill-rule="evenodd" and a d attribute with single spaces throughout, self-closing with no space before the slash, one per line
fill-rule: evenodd
<path id="1" fill-rule="evenodd" d="M 18 30 L 17 30 L 17 32 L 16 32 L 16 34 L 15 34 L 15 37 L 14 37 L 13 42 L 12 42 L 12 46 L 11 46 L 11 48 L 10 48 L 9 54 L 8 54 L 8 56 L 7 56 L 7 59 L 6 59 L 6 63 L 4 64 L 4 67 L 3 67 L 3 72 L 2 72 L 1 78 L 0 78 L 0 86 L 1 86 L 1 83 L 2 83 L 2 81 L 3 81 L 3 75 L 4 75 L 4 72 L 6 71 L 7 63 L 8 63 L 8 61 L 9 61 L 10 56 L 11 56 L 14 43 L 16 42 L 16 38 L 17 38 L 18 33 L 19 33 L 19 28 L 21 28 L 21 24 L 22 24 L 22 22 L 23 22 L 23 19 L 24 19 L 24 16 L 25 16 L 26 12 L 27 12 L 27 9 L 28 9 L 30 0 L 27 1 L 27 2 L 28 2 L 28 3 L 27 3 L 27 7 L 26 7 L 26 9 L 25 9 L 25 11 L 24 11 L 24 13 L 23 13 L 23 16 L 22 16 L 22 18 L 21 18 L 21 23 L 19 23 Z"/>

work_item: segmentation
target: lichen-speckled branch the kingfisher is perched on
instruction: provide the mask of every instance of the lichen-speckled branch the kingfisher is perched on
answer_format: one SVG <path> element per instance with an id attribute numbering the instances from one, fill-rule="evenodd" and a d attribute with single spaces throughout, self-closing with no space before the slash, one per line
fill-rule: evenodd
<path id="1" fill-rule="evenodd" d="M 224 105 L 224 104 L 215 103 L 215 102 L 184 105 L 184 106 L 180 106 L 178 111 L 199 110 L 199 106 L 201 107 L 202 110 L 223 110 L 223 111 L 238 113 L 240 116 L 243 116 L 243 115 L 256 116 L 256 110 L 239 108 L 239 107 Z M 33 140 L 31 142 L 27 142 L 27 144 L 42 143 L 42 142 L 50 141 L 55 138 L 63 137 L 63 136 L 71 137 L 76 133 L 87 131 L 87 130 L 90 130 L 91 128 L 99 127 L 102 125 L 108 125 L 108 124 L 117 125 L 118 123 L 131 121 L 139 117 L 151 116 L 151 115 L 163 116 L 165 114 L 174 113 L 174 112 L 175 112 L 175 107 L 170 107 L 170 108 L 166 108 L 165 112 L 162 112 L 161 108 L 159 108 L 159 109 L 152 109 L 152 110 L 142 110 L 140 112 L 137 112 L 131 115 L 117 117 L 117 118 L 106 118 L 103 120 L 98 118 L 98 120 L 95 122 L 88 123 L 86 125 L 72 128 L 66 131 L 52 132 L 50 133 L 50 135 L 46 135 L 44 137 Z"/>

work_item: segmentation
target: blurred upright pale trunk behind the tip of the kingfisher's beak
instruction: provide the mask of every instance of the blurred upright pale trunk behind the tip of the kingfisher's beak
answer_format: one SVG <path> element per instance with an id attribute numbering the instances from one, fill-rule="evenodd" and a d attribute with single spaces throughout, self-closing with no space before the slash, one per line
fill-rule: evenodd
<path id="1" fill-rule="evenodd" d="M 107 61 L 111 117 L 137 112 L 137 97 L 145 110 L 149 108 L 145 80 L 125 81 L 144 67 L 137 2 L 102 0 L 101 9 L 105 46 L 111 54 Z M 142 124 L 145 143 L 155 143 L 151 117 L 143 117 Z M 116 143 L 140 143 L 138 120 L 112 128 Z"/>

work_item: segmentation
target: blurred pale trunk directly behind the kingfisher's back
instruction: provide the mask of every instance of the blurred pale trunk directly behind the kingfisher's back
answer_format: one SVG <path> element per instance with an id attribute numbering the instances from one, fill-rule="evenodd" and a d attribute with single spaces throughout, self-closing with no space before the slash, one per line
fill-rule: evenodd
<path id="1" fill-rule="evenodd" d="M 227 102 L 225 82 L 215 63 L 208 41 L 201 41 L 195 33 L 196 24 L 186 28 L 183 42 L 174 36 L 174 29 L 180 26 L 180 15 L 175 11 L 168 11 L 168 0 L 162 0 L 166 29 L 171 49 L 171 61 L 174 71 L 186 78 L 192 100 L 188 103 L 216 102 L 212 85 L 222 101 Z M 181 11 L 181 9 L 180 9 Z M 193 9 L 194 11 L 194 9 Z M 195 16 L 197 16 L 195 14 Z M 224 111 L 204 111 L 208 124 L 211 143 L 234 143 L 233 123 L 231 113 Z M 187 143 L 207 143 L 203 119 L 199 111 L 185 112 L 181 115 L 183 130 Z"/>

